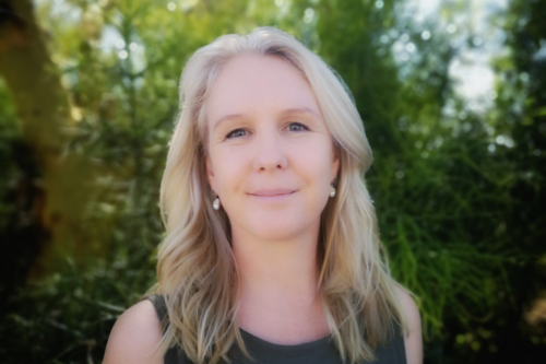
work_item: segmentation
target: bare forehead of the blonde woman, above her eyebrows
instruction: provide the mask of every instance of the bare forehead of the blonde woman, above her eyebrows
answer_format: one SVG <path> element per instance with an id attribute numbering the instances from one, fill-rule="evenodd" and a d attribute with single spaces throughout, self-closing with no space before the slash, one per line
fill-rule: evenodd
<path id="1" fill-rule="evenodd" d="M 224 114 L 286 108 L 310 108 L 320 114 L 302 73 L 287 60 L 274 56 L 244 55 L 229 60 L 212 83 L 206 104 L 209 120 Z"/>

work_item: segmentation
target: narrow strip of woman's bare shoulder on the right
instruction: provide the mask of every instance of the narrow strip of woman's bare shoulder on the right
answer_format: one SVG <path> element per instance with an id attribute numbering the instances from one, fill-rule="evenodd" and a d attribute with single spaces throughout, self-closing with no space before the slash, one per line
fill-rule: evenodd
<path id="1" fill-rule="evenodd" d="M 423 363 L 423 330 L 420 314 L 412 295 L 402 286 L 396 286 L 400 303 L 407 319 L 408 332 L 404 334 L 407 364 Z"/>

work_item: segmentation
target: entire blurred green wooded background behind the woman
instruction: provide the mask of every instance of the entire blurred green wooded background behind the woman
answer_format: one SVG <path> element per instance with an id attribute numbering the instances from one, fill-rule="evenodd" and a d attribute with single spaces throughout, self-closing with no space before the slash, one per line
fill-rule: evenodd
<path id="1" fill-rule="evenodd" d="M 188 57 L 274 25 L 353 92 L 426 362 L 543 363 L 544 2 L 0 0 L 0 362 L 102 362 L 155 280 Z"/>

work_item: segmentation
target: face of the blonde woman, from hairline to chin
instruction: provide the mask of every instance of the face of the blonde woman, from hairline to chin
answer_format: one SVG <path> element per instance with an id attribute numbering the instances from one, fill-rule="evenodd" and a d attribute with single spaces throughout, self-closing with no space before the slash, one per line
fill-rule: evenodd
<path id="1" fill-rule="evenodd" d="M 206 99 L 207 179 L 238 234 L 317 231 L 339 157 L 309 83 L 287 61 L 228 61 Z"/>

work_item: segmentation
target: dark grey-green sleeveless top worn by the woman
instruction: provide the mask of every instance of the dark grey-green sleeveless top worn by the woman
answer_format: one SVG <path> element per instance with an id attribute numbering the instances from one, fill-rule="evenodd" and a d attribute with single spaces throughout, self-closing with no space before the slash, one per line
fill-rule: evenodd
<path id="1" fill-rule="evenodd" d="M 146 297 L 154 305 L 159 321 L 167 316 L 167 306 L 162 295 Z M 296 345 L 280 345 L 262 340 L 239 329 L 247 347 L 250 360 L 234 344 L 227 356 L 234 364 L 343 364 L 333 339 L 325 337 L 316 341 Z M 376 364 L 406 364 L 404 337 L 399 331 L 387 345 L 376 348 Z M 219 362 L 226 364 L 223 360 Z M 185 352 L 177 347 L 170 348 L 165 354 L 165 364 L 192 364 Z"/>

